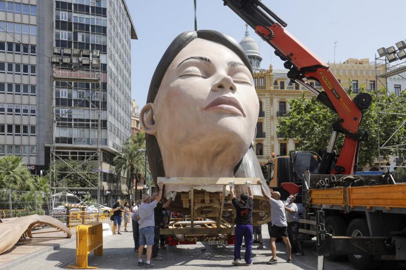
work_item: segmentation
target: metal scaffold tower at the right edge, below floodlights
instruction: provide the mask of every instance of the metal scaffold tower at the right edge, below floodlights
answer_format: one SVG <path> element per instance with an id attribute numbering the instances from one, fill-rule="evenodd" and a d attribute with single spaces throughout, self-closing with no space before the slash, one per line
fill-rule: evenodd
<path id="1" fill-rule="evenodd" d="M 385 151 L 390 151 L 391 153 L 395 152 L 396 150 L 406 150 L 406 144 L 391 144 L 390 140 L 392 139 L 392 137 L 403 127 L 406 126 L 406 120 L 403 121 L 394 132 L 392 132 L 392 134 L 389 136 L 389 138 L 381 138 L 380 134 L 379 134 L 379 130 L 380 130 L 380 123 L 381 123 L 381 118 L 384 115 L 403 115 L 403 117 L 406 117 L 405 113 L 395 113 L 395 112 L 390 112 L 389 109 L 393 109 L 393 105 L 392 103 L 388 102 L 388 95 L 390 95 L 390 91 L 388 89 L 388 78 L 394 75 L 399 75 L 401 76 L 401 78 L 406 80 L 406 77 L 401 75 L 402 72 L 406 71 L 405 68 L 406 65 L 406 60 L 405 61 L 401 61 L 401 62 L 397 62 L 394 65 L 390 65 L 389 61 L 386 59 L 385 56 L 379 57 L 377 55 L 375 55 L 375 78 L 376 78 L 376 87 L 377 87 L 377 92 L 376 92 L 376 99 L 377 99 L 377 105 L 376 105 L 376 110 L 377 110 L 377 125 L 378 125 L 378 131 L 377 131 L 377 138 L 378 138 L 378 162 L 381 162 L 381 150 L 385 150 Z M 378 70 L 383 69 L 383 67 L 385 66 L 385 72 L 382 74 L 379 74 Z M 385 94 L 383 93 L 379 93 L 379 89 L 378 89 L 378 82 L 381 85 L 384 85 L 386 88 Z M 384 95 L 386 97 L 386 102 L 380 102 L 380 97 Z M 384 109 L 381 110 L 380 106 L 384 105 Z M 405 158 L 406 157 L 401 157 L 403 158 L 402 163 L 399 166 L 396 167 L 401 167 L 401 168 L 406 168 L 406 164 L 405 164 Z M 384 167 L 384 168 L 389 168 L 391 166 L 381 166 L 381 164 L 379 165 L 380 167 Z"/>

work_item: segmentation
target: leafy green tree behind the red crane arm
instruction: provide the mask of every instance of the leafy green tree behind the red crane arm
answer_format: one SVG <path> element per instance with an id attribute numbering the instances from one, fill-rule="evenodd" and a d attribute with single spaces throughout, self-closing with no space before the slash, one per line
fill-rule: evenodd
<path id="1" fill-rule="evenodd" d="M 350 82 L 350 86 L 351 85 Z M 362 86 L 360 92 L 364 92 Z M 352 93 L 351 88 L 348 90 L 348 94 L 351 97 L 355 96 Z M 374 158 L 378 157 L 377 93 L 373 92 L 371 93 L 371 96 L 373 97 L 372 104 L 369 109 L 363 111 L 363 118 L 360 125 L 360 129 L 364 129 L 368 132 L 369 138 L 361 142 L 358 158 L 359 165 L 373 164 Z M 400 99 L 394 95 L 391 95 L 390 98 L 393 102 L 397 102 L 401 107 Z M 380 104 L 386 104 L 387 101 L 386 96 L 384 95 L 378 95 L 378 100 Z M 311 99 L 306 98 L 304 93 L 300 98 L 290 100 L 289 104 L 290 109 L 287 112 L 286 117 L 279 118 L 279 125 L 277 127 L 278 133 L 284 134 L 285 138 L 296 138 L 299 143 L 298 150 L 311 150 L 317 152 L 320 149 L 327 148 L 332 132 L 331 124 L 337 120 L 337 114 L 318 102 L 316 97 Z M 399 119 L 396 119 L 395 122 L 393 117 L 389 116 L 381 120 L 381 141 L 383 138 L 389 138 L 390 131 L 398 128 L 400 121 L 400 117 Z M 404 132 L 404 129 L 403 131 L 399 131 L 396 138 L 393 138 L 393 142 L 399 143 L 402 141 L 402 138 L 404 141 L 405 135 L 406 133 Z M 340 134 L 335 144 L 335 149 L 339 153 L 343 143 L 344 135 Z M 390 154 L 389 150 L 381 150 L 381 155 Z"/>

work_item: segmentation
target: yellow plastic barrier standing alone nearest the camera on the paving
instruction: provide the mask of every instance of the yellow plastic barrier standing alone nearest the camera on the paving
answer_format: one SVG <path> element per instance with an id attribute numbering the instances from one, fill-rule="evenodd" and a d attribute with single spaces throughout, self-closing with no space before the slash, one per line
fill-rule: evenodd
<path id="1" fill-rule="evenodd" d="M 100 222 L 79 225 L 76 228 L 76 265 L 67 267 L 97 269 L 97 267 L 87 265 L 87 255 L 92 251 L 94 256 L 103 256 L 103 225 Z"/>

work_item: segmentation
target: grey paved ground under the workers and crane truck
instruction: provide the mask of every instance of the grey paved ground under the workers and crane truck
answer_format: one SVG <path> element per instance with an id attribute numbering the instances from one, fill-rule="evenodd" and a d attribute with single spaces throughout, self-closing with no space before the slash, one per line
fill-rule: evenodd
<path id="1" fill-rule="evenodd" d="M 113 235 L 104 238 L 104 255 L 94 257 L 89 254 L 89 266 L 96 266 L 99 269 L 142 269 L 144 267 L 137 266 L 137 257 L 134 250 L 134 242 L 132 239 L 131 227 L 130 232 L 122 232 L 122 235 Z M 269 243 L 267 225 L 262 226 L 262 234 L 264 243 Z M 44 269 L 68 269 L 67 265 L 75 265 L 75 242 L 71 242 L 58 250 L 36 256 L 35 258 L 21 263 L 14 267 L 16 270 L 44 270 Z M 307 243 L 305 246 L 306 256 L 292 256 L 293 263 L 286 263 L 285 245 L 277 244 L 278 249 L 278 265 L 265 264 L 269 260 L 270 250 L 268 247 L 258 250 L 257 246 L 253 247 L 253 263 L 256 270 L 279 268 L 286 270 L 317 269 L 317 257 L 312 254 L 311 248 L 313 244 Z M 160 254 L 163 257 L 162 261 L 152 261 L 154 269 L 224 269 L 235 267 L 231 265 L 233 259 L 233 246 L 209 246 L 197 243 L 196 245 L 183 246 L 168 246 L 166 249 L 161 249 Z M 242 258 L 244 257 L 245 248 L 242 249 Z M 144 256 L 145 259 L 145 256 Z M 245 265 L 245 264 L 242 264 Z M 353 269 L 348 261 L 345 262 L 330 262 L 326 261 L 325 269 Z"/>

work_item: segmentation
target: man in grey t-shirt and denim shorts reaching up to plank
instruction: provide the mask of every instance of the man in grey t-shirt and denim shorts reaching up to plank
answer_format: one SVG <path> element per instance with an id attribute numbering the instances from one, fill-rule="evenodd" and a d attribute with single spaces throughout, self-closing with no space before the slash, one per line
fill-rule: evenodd
<path id="1" fill-rule="evenodd" d="M 143 262 L 143 249 L 147 245 L 147 261 L 145 267 L 152 267 L 151 254 L 152 246 L 154 245 L 154 228 L 155 228 L 155 215 L 154 209 L 162 198 L 163 183 L 158 183 L 159 193 L 158 196 L 151 202 L 151 197 L 148 194 L 143 194 L 143 204 L 138 207 L 137 219 L 138 227 L 140 230 L 139 249 L 138 249 L 138 266 L 144 265 Z"/>

